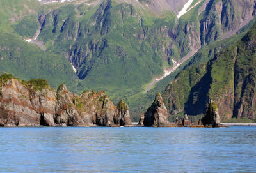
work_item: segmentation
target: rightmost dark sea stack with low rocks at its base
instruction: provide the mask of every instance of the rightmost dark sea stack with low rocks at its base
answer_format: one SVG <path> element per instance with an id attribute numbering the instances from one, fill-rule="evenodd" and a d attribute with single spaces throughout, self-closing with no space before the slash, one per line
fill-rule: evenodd
<path id="1" fill-rule="evenodd" d="M 195 124 L 193 124 L 193 127 L 226 127 L 225 125 L 220 123 L 220 116 L 218 112 L 218 107 L 215 102 L 211 102 L 208 105 L 206 115 L 200 119 L 199 121 L 196 121 Z"/>

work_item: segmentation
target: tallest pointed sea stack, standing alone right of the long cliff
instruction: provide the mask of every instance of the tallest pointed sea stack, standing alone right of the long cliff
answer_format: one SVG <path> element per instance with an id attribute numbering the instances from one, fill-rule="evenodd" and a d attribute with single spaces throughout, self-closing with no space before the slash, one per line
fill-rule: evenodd
<path id="1" fill-rule="evenodd" d="M 170 126 L 170 122 L 168 121 L 168 112 L 160 93 L 157 93 L 154 102 L 145 113 L 143 124 L 144 126 L 152 127 Z"/>

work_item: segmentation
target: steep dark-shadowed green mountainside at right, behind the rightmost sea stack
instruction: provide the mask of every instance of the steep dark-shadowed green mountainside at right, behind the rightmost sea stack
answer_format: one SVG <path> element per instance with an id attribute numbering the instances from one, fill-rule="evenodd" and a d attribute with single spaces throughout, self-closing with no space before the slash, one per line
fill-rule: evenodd
<path id="1" fill-rule="evenodd" d="M 205 114 L 210 100 L 219 107 L 220 118 L 255 117 L 256 24 L 237 43 L 208 63 L 189 67 L 164 91 L 164 102 L 172 114 Z"/>

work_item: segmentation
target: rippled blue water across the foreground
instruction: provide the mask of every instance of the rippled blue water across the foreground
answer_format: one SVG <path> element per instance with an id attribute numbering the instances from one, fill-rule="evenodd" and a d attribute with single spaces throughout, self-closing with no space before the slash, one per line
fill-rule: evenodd
<path id="1" fill-rule="evenodd" d="M 0 172 L 256 172 L 256 127 L 0 128 Z"/>

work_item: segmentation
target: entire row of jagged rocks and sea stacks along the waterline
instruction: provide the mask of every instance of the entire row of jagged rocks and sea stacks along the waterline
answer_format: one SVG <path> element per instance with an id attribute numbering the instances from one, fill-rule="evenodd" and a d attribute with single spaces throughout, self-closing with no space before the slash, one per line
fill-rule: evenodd
<path id="1" fill-rule="evenodd" d="M 115 106 L 104 91 L 70 93 L 61 84 L 57 91 L 44 79 L 19 80 L 12 75 L 0 76 L 0 126 L 107 126 L 133 127 L 129 107 L 120 99 Z M 147 127 L 227 127 L 220 123 L 218 107 L 209 103 L 202 119 L 191 123 L 188 116 L 168 121 L 168 110 L 157 93 L 137 126 Z"/>

